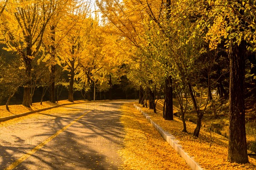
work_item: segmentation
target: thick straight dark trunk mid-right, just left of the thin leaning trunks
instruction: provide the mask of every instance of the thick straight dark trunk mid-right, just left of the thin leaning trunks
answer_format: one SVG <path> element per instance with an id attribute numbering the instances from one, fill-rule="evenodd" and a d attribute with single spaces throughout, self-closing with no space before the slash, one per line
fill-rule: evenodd
<path id="1" fill-rule="evenodd" d="M 172 77 L 169 76 L 165 81 L 165 120 L 173 120 L 173 99 L 172 99 Z"/>

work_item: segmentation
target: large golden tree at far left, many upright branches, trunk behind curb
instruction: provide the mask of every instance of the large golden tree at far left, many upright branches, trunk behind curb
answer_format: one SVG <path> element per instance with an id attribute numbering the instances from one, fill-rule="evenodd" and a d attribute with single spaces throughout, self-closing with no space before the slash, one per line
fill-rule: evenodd
<path id="1" fill-rule="evenodd" d="M 26 77 L 31 77 L 32 61 L 41 49 L 45 28 L 58 0 L 24 0 L 9 3 L 1 14 L 1 29 L 7 51 L 23 59 Z M 22 104 L 30 107 L 30 81 L 24 85 Z"/>

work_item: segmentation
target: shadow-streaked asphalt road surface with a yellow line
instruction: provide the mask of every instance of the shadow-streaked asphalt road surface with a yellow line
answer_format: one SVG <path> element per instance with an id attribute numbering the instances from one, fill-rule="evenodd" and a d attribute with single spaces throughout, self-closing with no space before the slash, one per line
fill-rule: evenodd
<path id="1" fill-rule="evenodd" d="M 69 105 L 1 123 L 0 169 L 122 169 L 123 103 Z"/>

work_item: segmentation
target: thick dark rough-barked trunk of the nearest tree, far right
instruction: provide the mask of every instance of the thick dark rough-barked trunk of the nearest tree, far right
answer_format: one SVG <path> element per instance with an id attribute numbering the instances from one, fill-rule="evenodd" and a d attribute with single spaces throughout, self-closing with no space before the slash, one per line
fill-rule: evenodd
<path id="1" fill-rule="evenodd" d="M 230 46 L 228 161 L 248 163 L 245 132 L 244 77 L 246 44 Z"/>

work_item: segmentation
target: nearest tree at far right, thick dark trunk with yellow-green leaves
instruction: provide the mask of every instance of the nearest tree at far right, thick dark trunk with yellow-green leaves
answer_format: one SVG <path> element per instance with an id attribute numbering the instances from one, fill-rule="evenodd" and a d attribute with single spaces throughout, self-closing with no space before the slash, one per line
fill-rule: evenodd
<path id="1" fill-rule="evenodd" d="M 198 26 L 207 31 L 209 47 L 224 43 L 229 57 L 229 147 L 228 161 L 247 163 L 245 132 L 244 79 L 248 50 L 255 51 L 256 4 L 251 0 L 209 1 L 208 15 Z M 228 63 L 227 63 L 228 64 Z"/>

